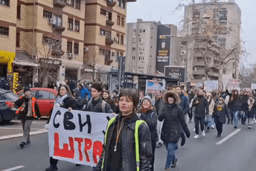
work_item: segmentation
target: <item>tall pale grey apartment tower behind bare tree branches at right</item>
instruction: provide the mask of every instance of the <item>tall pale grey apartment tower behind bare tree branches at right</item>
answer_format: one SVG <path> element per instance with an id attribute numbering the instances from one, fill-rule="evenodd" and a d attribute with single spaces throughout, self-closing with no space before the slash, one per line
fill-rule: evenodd
<path id="1" fill-rule="evenodd" d="M 211 27 L 224 28 L 226 31 L 216 31 L 211 33 L 211 40 L 208 41 L 215 47 L 218 53 L 221 51 L 232 51 L 234 47 L 240 48 L 240 31 L 241 31 L 241 10 L 234 2 L 221 2 L 221 3 L 202 3 L 191 4 L 185 7 L 185 20 L 192 21 L 193 19 L 202 19 L 202 21 L 211 22 Z M 217 26 L 216 26 L 217 25 Z M 183 36 L 192 37 L 195 31 L 199 28 L 196 22 L 188 22 L 185 25 Z M 228 31 L 232 28 L 232 31 Z M 208 35 L 209 36 L 209 35 Z M 203 42 L 205 38 L 201 36 L 198 40 Z M 209 39 L 208 39 L 209 40 Z M 206 40 L 205 40 L 206 41 Z M 198 47 L 196 47 L 198 48 Z M 204 80 L 221 80 L 222 74 L 231 74 L 233 78 L 238 79 L 239 76 L 239 59 L 240 53 L 233 53 L 228 57 L 224 63 L 218 68 L 213 68 L 209 77 L 205 78 L 205 59 L 196 51 L 195 43 L 188 39 L 188 61 L 187 61 L 187 76 L 188 81 L 191 83 L 203 83 Z M 201 47 L 203 48 L 203 47 Z M 223 50 L 224 49 L 224 50 Z M 231 59 L 234 58 L 232 60 Z M 221 59 L 220 59 L 221 60 Z M 212 63 L 220 62 L 214 59 Z"/>

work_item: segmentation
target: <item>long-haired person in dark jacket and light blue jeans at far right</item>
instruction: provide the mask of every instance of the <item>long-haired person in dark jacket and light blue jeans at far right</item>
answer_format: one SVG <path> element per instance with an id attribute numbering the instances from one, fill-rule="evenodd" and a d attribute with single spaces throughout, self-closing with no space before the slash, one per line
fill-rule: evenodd
<path id="1" fill-rule="evenodd" d="M 232 92 L 232 96 L 229 98 L 228 107 L 234 114 L 234 129 L 237 129 L 238 115 L 240 114 L 242 106 L 242 98 L 238 94 L 237 90 Z"/>

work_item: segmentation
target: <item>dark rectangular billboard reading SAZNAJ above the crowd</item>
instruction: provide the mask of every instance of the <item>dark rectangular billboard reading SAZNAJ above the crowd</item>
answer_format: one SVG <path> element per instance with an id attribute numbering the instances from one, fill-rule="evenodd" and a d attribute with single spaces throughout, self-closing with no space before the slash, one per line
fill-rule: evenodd
<path id="1" fill-rule="evenodd" d="M 185 83 L 185 66 L 165 66 L 165 77 L 170 77 L 179 80 L 179 83 Z"/>

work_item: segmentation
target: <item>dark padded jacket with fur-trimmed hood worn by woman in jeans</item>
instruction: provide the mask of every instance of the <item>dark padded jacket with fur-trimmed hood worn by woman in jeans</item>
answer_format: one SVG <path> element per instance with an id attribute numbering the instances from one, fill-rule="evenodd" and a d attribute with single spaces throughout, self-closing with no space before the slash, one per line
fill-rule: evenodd
<path id="1" fill-rule="evenodd" d="M 173 97 L 176 100 L 175 104 L 167 102 L 167 97 Z M 183 114 L 182 107 L 179 106 L 179 95 L 175 91 L 167 91 L 164 94 L 164 108 L 159 114 L 159 121 L 164 120 L 161 128 L 161 140 L 167 143 L 177 143 L 179 141 L 180 126 L 184 130 L 186 136 L 189 138 L 191 132 L 188 129 Z"/>

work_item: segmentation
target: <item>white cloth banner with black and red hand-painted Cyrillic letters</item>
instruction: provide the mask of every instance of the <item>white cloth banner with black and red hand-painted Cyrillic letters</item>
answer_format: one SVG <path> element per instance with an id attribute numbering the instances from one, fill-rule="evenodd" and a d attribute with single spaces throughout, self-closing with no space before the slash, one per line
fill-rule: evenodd
<path id="1" fill-rule="evenodd" d="M 103 151 L 104 132 L 111 117 L 54 106 L 48 132 L 50 156 L 94 167 Z"/>

